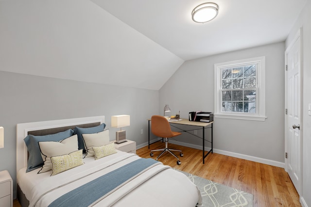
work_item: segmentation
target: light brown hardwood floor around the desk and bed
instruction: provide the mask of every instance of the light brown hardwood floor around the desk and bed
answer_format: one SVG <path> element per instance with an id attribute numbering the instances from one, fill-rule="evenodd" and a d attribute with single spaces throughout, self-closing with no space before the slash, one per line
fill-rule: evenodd
<path id="1" fill-rule="evenodd" d="M 157 142 L 137 150 L 138 156 L 150 158 L 151 149 L 159 149 L 164 143 Z M 170 147 L 181 149 L 181 165 L 169 153 L 165 153 L 159 161 L 175 169 L 197 175 L 232 188 L 249 192 L 254 195 L 254 207 L 301 207 L 299 195 L 283 168 L 245 159 L 233 158 L 220 154 L 209 154 L 202 163 L 202 151 L 169 144 Z M 154 152 L 154 159 L 160 152 Z M 178 155 L 178 154 L 176 154 Z M 20 207 L 17 200 L 13 207 Z"/>

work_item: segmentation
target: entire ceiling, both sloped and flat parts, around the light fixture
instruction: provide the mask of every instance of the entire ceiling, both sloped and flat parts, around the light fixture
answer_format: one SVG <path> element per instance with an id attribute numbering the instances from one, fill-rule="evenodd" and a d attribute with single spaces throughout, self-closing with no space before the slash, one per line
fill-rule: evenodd
<path id="1" fill-rule="evenodd" d="M 284 41 L 307 0 L 0 0 L 0 71 L 158 90 L 186 60 Z"/>

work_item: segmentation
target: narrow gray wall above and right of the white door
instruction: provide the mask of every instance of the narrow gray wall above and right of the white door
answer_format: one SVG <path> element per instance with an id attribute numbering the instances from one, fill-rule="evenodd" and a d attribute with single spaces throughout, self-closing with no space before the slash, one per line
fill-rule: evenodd
<path id="1" fill-rule="evenodd" d="M 301 200 L 303 207 L 311 207 L 311 116 L 308 115 L 308 105 L 311 104 L 311 1 L 309 1 L 288 38 L 286 47 L 293 41 L 294 35 L 302 27 L 303 40 L 303 112 L 302 112 L 302 193 Z M 301 134 L 301 133 L 300 133 Z"/>

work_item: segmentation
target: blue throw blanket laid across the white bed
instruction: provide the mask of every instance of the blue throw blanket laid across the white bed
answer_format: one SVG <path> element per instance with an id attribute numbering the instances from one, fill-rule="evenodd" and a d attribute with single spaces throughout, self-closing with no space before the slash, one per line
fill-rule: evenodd
<path id="1" fill-rule="evenodd" d="M 100 176 L 54 200 L 49 207 L 87 207 L 144 169 L 157 163 L 154 159 L 137 159 Z"/>

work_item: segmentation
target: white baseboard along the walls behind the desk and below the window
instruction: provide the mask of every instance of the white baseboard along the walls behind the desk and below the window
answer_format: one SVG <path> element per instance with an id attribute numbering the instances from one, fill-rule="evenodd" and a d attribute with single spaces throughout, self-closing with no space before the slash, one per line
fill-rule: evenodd
<path id="1" fill-rule="evenodd" d="M 161 138 L 154 139 L 154 140 L 150 141 L 150 143 L 153 143 L 153 142 L 158 141 L 158 140 L 161 140 Z M 202 150 L 201 145 L 183 143 L 183 142 L 178 142 L 178 141 L 174 141 L 174 140 L 170 140 L 170 143 Z M 148 145 L 148 142 L 139 144 L 137 146 L 137 149 L 144 147 L 146 145 Z M 205 150 L 209 151 L 210 147 L 205 147 Z M 221 155 L 226 155 L 226 156 L 230 156 L 230 157 L 234 157 L 234 158 L 240 158 L 240 159 L 246 159 L 246 160 L 255 161 L 255 162 L 259 162 L 259 163 L 263 163 L 263 164 L 268 164 L 268 165 L 272 165 L 272 166 L 276 166 L 276 167 L 281 167 L 281 168 L 285 167 L 284 162 L 278 162 L 278 161 L 271 160 L 271 159 L 258 158 L 258 157 L 254 157 L 254 156 L 243 155 L 243 154 L 239 154 L 239 153 L 235 153 L 235 152 L 229 152 L 229 151 L 215 149 L 215 148 L 213 149 L 213 152 L 217 153 L 217 154 L 221 154 Z"/>

